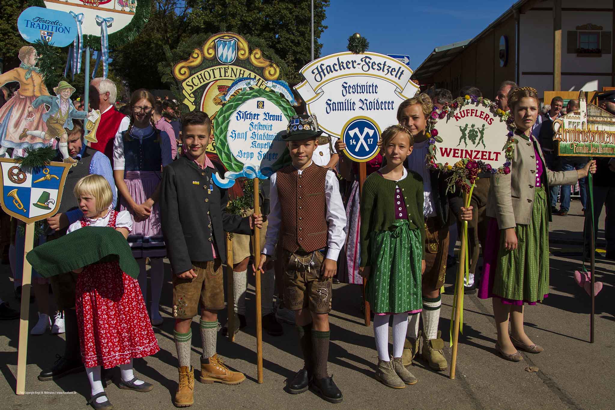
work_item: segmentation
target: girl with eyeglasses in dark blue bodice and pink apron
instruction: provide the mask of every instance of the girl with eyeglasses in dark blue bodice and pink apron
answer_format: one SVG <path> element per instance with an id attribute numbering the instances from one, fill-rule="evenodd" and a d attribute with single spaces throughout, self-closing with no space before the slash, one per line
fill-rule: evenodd
<path id="1" fill-rule="evenodd" d="M 167 255 L 160 223 L 158 197 L 162 167 L 172 161 L 171 144 L 166 132 L 157 130 L 152 119 L 154 96 L 140 89 L 130 98 L 130 125 L 113 143 L 113 176 L 121 210 L 128 210 L 135 223 L 128 237 L 133 256 L 139 264 L 139 285 L 147 300 L 145 259 L 149 258 L 151 277 L 151 313 L 154 326 L 162 324 L 158 304 L 164 283 Z"/>

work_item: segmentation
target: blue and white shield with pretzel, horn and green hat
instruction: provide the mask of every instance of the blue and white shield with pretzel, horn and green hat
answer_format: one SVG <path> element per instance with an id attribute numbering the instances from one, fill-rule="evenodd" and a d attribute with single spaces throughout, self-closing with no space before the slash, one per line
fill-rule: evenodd
<path id="1" fill-rule="evenodd" d="M 50 162 L 33 172 L 22 170 L 14 159 L 0 158 L 0 205 L 25 223 L 55 215 L 60 208 L 66 175 L 72 164 Z"/>

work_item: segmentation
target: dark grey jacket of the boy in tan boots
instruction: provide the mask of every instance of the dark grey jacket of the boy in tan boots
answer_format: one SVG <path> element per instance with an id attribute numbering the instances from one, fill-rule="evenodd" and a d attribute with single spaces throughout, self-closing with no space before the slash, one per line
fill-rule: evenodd
<path id="1" fill-rule="evenodd" d="M 200 170 L 185 156 L 164 168 L 160 211 L 164 242 L 174 274 L 192 269 L 192 261 L 226 262 L 226 232 L 251 235 L 248 218 L 226 212 L 228 193 L 212 182 L 212 172 L 224 175 L 224 168 Z M 211 193 L 208 188 L 212 186 Z"/>

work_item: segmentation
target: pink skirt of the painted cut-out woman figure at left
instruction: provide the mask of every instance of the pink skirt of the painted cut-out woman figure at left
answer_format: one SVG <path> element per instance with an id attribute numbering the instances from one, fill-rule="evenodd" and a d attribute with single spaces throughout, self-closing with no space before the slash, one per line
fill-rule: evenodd
<path id="1" fill-rule="evenodd" d="M 50 141 L 33 135 L 28 135 L 23 140 L 19 139 L 23 130 L 47 132 L 47 124 L 42 120 L 42 114 L 47 111 L 45 104 L 41 104 L 39 108 L 34 108 L 34 119 L 32 121 L 26 120 L 28 107 L 32 105 L 34 100 L 36 100 L 36 97 L 23 97 L 23 95 L 17 94 L 0 108 L 1 146 L 16 149 L 28 146 L 40 148 L 50 143 Z"/>

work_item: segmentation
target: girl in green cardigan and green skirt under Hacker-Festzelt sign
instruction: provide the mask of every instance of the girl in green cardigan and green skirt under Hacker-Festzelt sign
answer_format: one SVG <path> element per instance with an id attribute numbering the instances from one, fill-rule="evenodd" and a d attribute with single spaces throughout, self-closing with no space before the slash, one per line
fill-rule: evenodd
<path id="1" fill-rule="evenodd" d="M 402 365 L 402 352 L 408 313 L 418 314 L 423 309 L 423 179 L 403 166 L 412 145 L 408 128 L 392 125 L 384 130 L 382 147 L 387 165 L 365 180 L 360 202 L 359 272 L 367 280 L 366 298 L 375 312 L 376 378 L 392 388 L 403 388 L 417 381 Z M 389 356 L 391 315 L 392 358 Z"/>

